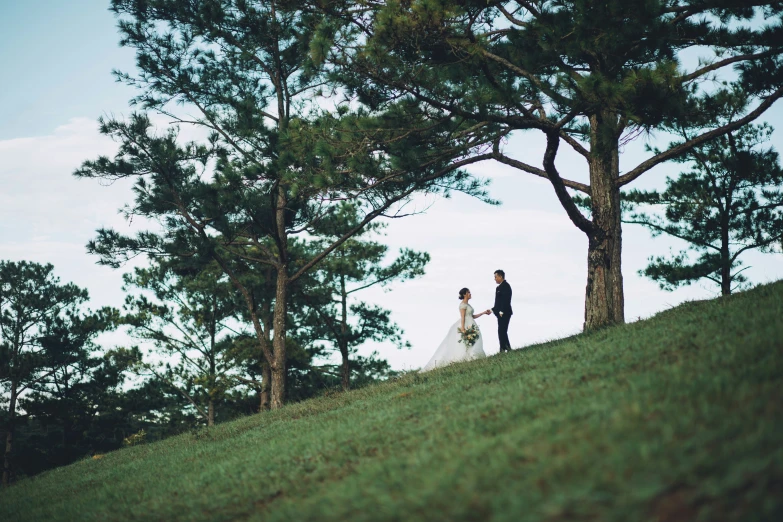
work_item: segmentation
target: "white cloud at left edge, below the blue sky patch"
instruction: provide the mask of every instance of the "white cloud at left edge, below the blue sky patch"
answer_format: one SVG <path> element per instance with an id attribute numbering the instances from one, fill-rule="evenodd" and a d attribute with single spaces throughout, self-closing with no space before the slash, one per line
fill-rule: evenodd
<path id="1" fill-rule="evenodd" d="M 88 288 L 93 308 L 122 303 L 121 274 L 96 266 L 85 244 L 102 226 L 128 229 L 118 209 L 132 193 L 127 182 L 102 186 L 72 174 L 116 148 L 87 118 L 50 135 L 0 141 L 0 259 L 52 263 L 62 281 Z"/>

